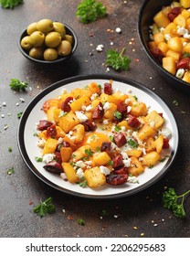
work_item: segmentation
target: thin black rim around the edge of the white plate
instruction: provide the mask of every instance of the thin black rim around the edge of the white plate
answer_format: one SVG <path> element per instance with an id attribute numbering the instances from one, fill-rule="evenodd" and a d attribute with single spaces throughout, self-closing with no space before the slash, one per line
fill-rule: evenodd
<path id="1" fill-rule="evenodd" d="M 58 89 L 59 87 L 63 87 L 70 82 L 75 82 L 75 81 L 81 81 L 81 80 L 115 80 L 118 82 L 122 83 L 127 83 L 131 85 L 132 87 L 135 87 L 141 91 L 144 91 L 147 93 L 149 96 L 153 98 L 154 101 L 158 101 L 159 104 L 161 104 L 162 108 L 164 111 L 169 115 L 169 120 L 171 123 L 174 123 L 174 130 L 176 131 L 175 133 L 175 143 L 174 143 L 174 148 L 171 152 L 171 157 L 170 160 L 167 161 L 166 165 L 164 165 L 164 168 L 156 175 L 153 176 L 151 180 L 148 180 L 146 183 L 142 184 L 142 186 L 139 187 L 134 187 L 131 190 L 117 193 L 117 194 L 111 194 L 111 195 L 90 195 L 90 194 L 85 194 L 85 193 L 79 193 L 77 191 L 72 191 L 69 190 L 68 188 L 65 187 L 59 187 L 58 185 L 54 184 L 52 181 L 47 179 L 47 177 L 43 176 L 37 168 L 32 164 L 29 156 L 26 153 L 26 145 L 25 145 L 25 140 L 24 140 L 24 131 L 25 131 L 25 125 L 27 118 L 29 116 L 29 113 L 32 112 L 33 108 L 36 106 L 37 102 L 43 99 L 48 93 L 51 91 L 54 91 Z M 164 107 L 163 107 L 164 106 Z M 171 121 L 172 117 L 172 121 Z M 61 192 L 64 192 L 66 194 L 76 196 L 76 197 L 85 197 L 85 198 L 90 198 L 90 199 L 114 199 L 114 198 L 120 198 L 120 197 L 128 197 L 132 196 L 133 194 L 139 193 L 140 191 L 153 186 L 154 183 L 156 183 L 158 180 L 160 180 L 165 173 L 168 171 L 169 167 L 173 164 L 174 158 L 177 155 L 178 152 L 178 147 L 179 147 L 179 130 L 178 130 L 178 125 L 177 122 L 174 118 L 173 112 L 170 110 L 168 105 L 163 101 L 163 99 L 158 96 L 154 91 L 151 89 L 147 88 L 146 86 L 142 85 L 142 83 L 131 80 L 128 78 L 122 78 L 120 76 L 116 75 L 108 75 L 108 74 L 88 74 L 88 75 L 79 75 L 79 76 L 74 76 L 71 78 L 67 78 L 64 80 L 58 80 L 57 82 L 52 83 L 49 85 L 46 89 L 43 91 L 40 91 L 26 106 L 25 111 L 22 114 L 22 117 L 20 119 L 20 122 L 18 124 L 18 129 L 17 129 L 17 144 L 18 144 L 18 149 L 20 152 L 20 155 L 22 156 L 26 166 L 28 169 L 35 175 L 37 176 L 41 181 L 43 181 L 45 184 L 47 184 L 50 187 L 53 187 Z"/>

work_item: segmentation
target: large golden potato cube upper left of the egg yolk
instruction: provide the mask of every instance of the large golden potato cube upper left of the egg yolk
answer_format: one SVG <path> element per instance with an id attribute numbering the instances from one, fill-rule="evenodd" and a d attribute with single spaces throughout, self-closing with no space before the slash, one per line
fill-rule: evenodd
<path id="1" fill-rule="evenodd" d="M 79 119 L 74 112 L 69 112 L 60 117 L 58 124 L 65 133 L 69 133 L 75 125 L 79 124 Z"/>

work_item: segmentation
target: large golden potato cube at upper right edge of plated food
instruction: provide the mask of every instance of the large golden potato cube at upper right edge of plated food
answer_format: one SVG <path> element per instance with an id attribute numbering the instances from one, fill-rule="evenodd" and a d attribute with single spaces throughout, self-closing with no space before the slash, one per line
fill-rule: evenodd
<path id="1" fill-rule="evenodd" d="M 154 130 L 157 130 L 163 125 L 164 118 L 158 112 L 152 111 L 144 118 L 144 122 L 150 124 Z"/>

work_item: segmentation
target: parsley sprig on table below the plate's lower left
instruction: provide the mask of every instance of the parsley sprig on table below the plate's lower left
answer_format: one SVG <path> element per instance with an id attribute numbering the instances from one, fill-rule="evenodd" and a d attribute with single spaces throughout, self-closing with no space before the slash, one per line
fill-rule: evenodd
<path id="1" fill-rule="evenodd" d="M 39 217 L 44 217 L 47 214 L 51 214 L 55 212 L 55 206 L 52 204 L 52 197 L 48 197 L 47 200 L 38 204 L 33 212 L 37 213 Z"/>

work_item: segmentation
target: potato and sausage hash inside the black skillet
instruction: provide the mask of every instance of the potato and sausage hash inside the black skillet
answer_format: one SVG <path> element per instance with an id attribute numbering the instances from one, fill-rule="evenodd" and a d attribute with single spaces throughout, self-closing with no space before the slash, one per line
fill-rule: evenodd
<path id="1" fill-rule="evenodd" d="M 150 52 L 164 69 L 190 82 L 190 1 L 164 6 L 153 16 Z"/>

